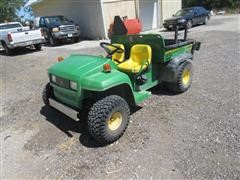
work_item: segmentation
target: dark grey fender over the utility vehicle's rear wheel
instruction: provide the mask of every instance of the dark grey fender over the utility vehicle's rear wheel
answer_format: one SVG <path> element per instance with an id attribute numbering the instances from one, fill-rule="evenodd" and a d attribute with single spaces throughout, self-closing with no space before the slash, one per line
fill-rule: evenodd
<path id="1" fill-rule="evenodd" d="M 164 82 L 175 82 L 177 80 L 177 69 L 185 61 L 192 61 L 191 53 L 183 53 L 171 61 L 160 65 L 160 80 Z"/>

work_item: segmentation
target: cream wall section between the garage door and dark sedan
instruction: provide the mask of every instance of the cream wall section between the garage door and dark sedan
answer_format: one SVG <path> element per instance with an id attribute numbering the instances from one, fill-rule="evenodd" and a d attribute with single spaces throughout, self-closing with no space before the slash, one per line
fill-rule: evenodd
<path id="1" fill-rule="evenodd" d="M 182 8 L 182 0 L 161 0 L 162 1 L 162 19 L 172 17 Z"/>

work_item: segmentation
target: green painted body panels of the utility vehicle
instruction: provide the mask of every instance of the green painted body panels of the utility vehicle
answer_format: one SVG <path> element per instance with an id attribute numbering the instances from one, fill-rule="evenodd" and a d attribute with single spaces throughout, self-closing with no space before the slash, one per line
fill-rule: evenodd
<path id="1" fill-rule="evenodd" d="M 151 95 L 148 91 L 150 88 L 160 83 L 159 65 L 171 61 L 182 53 L 191 53 L 193 46 L 193 43 L 190 43 L 167 50 L 164 39 L 160 35 L 153 34 L 114 36 L 111 41 L 124 45 L 126 58 L 129 58 L 130 49 L 134 44 L 151 46 L 152 62 L 143 72 L 147 77 L 147 82 L 141 86 L 137 85 L 136 75 L 121 72 L 111 59 L 100 56 L 71 55 L 48 69 L 49 75 L 77 83 L 77 90 L 74 91 L 51 82 L 57 100 L 73 108 L 81 109 L 83 100 L 91 98 L 91 93 L 97 94 L 110 88 L 127 85 L 130 89 L 128 93 L 133 95 L 135 103 L 138 104 Z M 103 71 L 103 65 L 106 63 L 111 66 L 109 73 Z"/>

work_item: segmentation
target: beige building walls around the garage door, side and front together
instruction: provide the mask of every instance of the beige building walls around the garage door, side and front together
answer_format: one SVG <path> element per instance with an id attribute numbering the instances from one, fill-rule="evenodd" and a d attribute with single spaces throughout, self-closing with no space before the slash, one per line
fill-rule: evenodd
<path id="1" fill-rule="evenodd" d="M 155 13 L 158 17 L 153 21 L 153 24 L 157 21 L 158 27 L 164 19 L 182 7 L 182 0 L 151 1 L 158 1 L 158 11 Z M 140 0 L 43 0 L 32 8 L 35 16 L 64 15 L 79 24 L 83 37 L 102 39 L 106 37 L 114 16 L 136 18 L 141 14 L 139 2 Z M 144 11 L 145 16 L 148 11 Z M 149 14 L 154 14 L 153 10 Z M 152 27 L 155 28 L 155 25 Z"/>

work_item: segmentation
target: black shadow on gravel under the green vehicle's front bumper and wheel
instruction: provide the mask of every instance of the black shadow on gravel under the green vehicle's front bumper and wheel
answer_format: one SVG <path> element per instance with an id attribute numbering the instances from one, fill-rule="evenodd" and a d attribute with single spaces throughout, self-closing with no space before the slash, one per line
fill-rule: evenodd
<path id="1" fill-rule="evenodd" d="M 131 114 L 140 110 L 141 107 L 137 106 L 131 109 Z M 75 121 L 70 117 L 58 112 L 57 110 L 43 106 L 40 113 L 46 117 L 46 120 L 64 132 L 68 137 L 73 137 L 70 131 L 80 134 L 79 141 L 83 146 L 89 148 L 98 148 L 107 146 L 106 144 L 99 144 L 93 138 L 90 137 L 87 131 L 87 111 L 81 111 L 78 118 L 79 121 Z"/>

